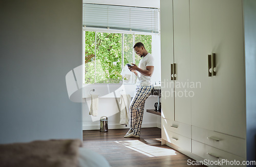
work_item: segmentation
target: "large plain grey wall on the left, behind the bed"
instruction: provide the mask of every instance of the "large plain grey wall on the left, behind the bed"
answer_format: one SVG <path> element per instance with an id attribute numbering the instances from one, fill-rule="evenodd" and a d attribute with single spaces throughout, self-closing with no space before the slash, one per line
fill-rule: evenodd
<path id="1" fill-rule="evenodd" d="M 82 62 L 82 0 L 0 0 L 0 24 L 0 143 L 81 139 L 65 77 Z"/>

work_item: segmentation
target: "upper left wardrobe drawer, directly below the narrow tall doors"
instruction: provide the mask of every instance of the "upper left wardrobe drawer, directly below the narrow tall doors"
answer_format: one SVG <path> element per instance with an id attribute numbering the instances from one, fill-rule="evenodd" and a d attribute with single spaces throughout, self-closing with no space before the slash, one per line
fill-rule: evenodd
<path id="1" fill-rule="evenodd" d="M 191 138 L 191 125 L 162 118 L 162 128 Z"/>

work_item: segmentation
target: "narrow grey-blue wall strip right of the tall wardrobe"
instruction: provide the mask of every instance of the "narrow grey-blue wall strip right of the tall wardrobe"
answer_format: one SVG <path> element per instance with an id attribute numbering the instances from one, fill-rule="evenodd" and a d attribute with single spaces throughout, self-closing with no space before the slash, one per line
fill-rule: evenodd
<path id="1" fill-rule="evenodd" d="M 256 159 L 256 1 L 244 0 L 247 160 Z M 248 165 L 249 166 L 249 165 Z M 250 165 L 254 166 L 254 165 Z"/>

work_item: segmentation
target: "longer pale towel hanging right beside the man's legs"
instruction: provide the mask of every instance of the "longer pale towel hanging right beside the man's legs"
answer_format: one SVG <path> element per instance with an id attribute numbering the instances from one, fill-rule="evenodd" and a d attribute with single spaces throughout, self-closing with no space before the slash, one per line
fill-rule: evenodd
<path id="1" fill-rule="evenodd" d="M 130 121 L 129 107 L 131 103 L 131 95 L 121 94 L 120 96 L 120 124 L 128 124 Z"/>

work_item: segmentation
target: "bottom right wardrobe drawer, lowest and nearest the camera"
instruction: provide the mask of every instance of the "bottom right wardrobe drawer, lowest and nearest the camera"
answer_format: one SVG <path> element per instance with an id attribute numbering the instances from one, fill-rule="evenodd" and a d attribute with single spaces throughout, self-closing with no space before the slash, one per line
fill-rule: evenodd
<path id="1" fill-rule="evenodd" d="M 192 140 L 192 153 L 204 158 L 205 159 L 204 162 L 207 162 L 207 163 L 214 163 L 215 161 L 217 162 L 221 161 L 222 163 L 217 164 L 219 166 L 233 166 L 234 160 L 240 161 L 239 162 L 240 165 L 237 165 L 237 166 L 246 166 L 246 165 L 242 165 L 242 162 L 246 160 L 245 158 L 239 157 L 234 154 L 230 154 L 228 152 L 222 151 L 220 149 L 208 146 L 206 144 L 203 144 L 194 140 Z M 210 162 L 208 162 L 208 160 Z M 237 163 L 238 162 L 236 162 L 235 164 Z"/>

